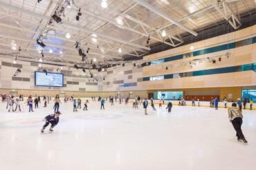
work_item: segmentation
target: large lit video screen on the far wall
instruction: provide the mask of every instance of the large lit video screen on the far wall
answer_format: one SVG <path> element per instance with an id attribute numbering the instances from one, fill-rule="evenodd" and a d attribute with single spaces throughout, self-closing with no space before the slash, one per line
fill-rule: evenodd
<path id="1" fill-rule="evenodd" d="M 35 72 L 35 85 L 48 87 L 63 87 L 63 74 L 52 72 Z"/>

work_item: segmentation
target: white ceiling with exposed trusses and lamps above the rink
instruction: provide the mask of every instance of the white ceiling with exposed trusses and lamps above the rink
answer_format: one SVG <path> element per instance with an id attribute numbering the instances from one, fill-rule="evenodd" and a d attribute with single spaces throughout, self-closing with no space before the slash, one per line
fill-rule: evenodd
<path id="1" fill-rule="evenodd" d="M 0 0 L 1 58 L 42 58 L 36 39 L 62 1 L 68 0 Z M 255 0 L 106 0 L 107 8 L 102 8 L 102 0 L 73 1 L 82 9 L 80 21 L 75 19 L 78 8 L 74 4 L 65 9 L 62 23 L 54 23 L 55 33 L 44 40 L 44 61 L 82 63 L 75 49 L 76 41 L 84 51 L 89 48 L 89 61 L 122 61 L 122 56 L 134 59 L 147 54 L 156 43 L 181 45 L 185 43 L 183 37 L 191 35 L 190 31 L 223 19 L 230 19 L 230 25 L 237 19 L 234 26 L 239 28 L 239 14 L 256 8 Z M 166 36 L 162 36 L 163 30 Z M 66 38 L 67 33 L 70 39 Z M 119 48 L 122 52 L 118 52 Z"/>

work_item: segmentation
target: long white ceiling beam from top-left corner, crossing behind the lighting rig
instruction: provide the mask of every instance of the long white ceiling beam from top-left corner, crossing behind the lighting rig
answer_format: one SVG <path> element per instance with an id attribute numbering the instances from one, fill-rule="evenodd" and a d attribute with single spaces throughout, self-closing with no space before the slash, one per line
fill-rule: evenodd
<path id="1" fill-rule="evenodd" d="M 17 8 L 17 7 L 15 7 L 15 6 L 11 6 L 11 5 L 9 5 L 9 4 L 7 4 L 7 3 L 3 3 L 3 2 L 1 2 L 1 1 L 0 1 L 0 6 L 1 6 L 2 8 L 8 8 L 8 9 L 10 9 L 10 10 L 15 10 L 15 11 L 17 11 L 17 12 L 23 12 L 24 14 L 29 14 L 30 16 L 37 17 L 37 18 L 39 18 L 39 19 L 45 19 L 45 20 L 47 20 L 47 21 L 50 19 L 50 17 L 46 17 L 46 16 L 44 16 L 44 15 L 42 15 L 42 14 L 37 14 L 37 13 L 35 13 L 35 12 L 30 12 L 30 11 L 24 10 L 24 9 L 22 9 L 22 8 Z M 129 42 L 129 41 L 125 41 L 125 40 L 122 40 L 122 39 L 118 39 L 118 38 L 113 37 L 113 36 L 108 36 L 107 34 L 104 34 L 104 33 L 101 33 L 101 32 L 95 32 L 95 31 L 93 31 L 93 30 L 91 30 L 91 29 L 89 29 L 89 28 L 80 27 L 80 26 L 73 25 L 73 24 L 71 24 L 71 23 L 66 23 L 66 22 L 62 23 L 62 25 L 65 25 L 65 26 L 67 26 L 67 27 L 69 27 L 69 28 L 75 28 L 75 29 L 77 29 L 77 30 L 82 30 L 82 31 L 84 31 L 84 32 L 89 32 L 89 33 L 91 33 L 91 34 L 97 34 L 98 36 L 102 36 L 102 38 L 104 38 L 104 39 L 109 39 L 109 40 L 111 40 L 111 41 L 116 41 L 116 42 L 118 42 L 118 43 L 123 43 L 123 44 L 126 44 L 126 45 L 131 45 L 131 46 L 136 47 L 136 48 L 143 48 L 143 49 L 145 49 L 145 50 L 150 50 L 149 47 L 145 47 L 145 46 L 143 46 L 143 45 L 138 45 L 138 44 L 136 44 L 136 43 L 131 43 L 131 42 Z"/>

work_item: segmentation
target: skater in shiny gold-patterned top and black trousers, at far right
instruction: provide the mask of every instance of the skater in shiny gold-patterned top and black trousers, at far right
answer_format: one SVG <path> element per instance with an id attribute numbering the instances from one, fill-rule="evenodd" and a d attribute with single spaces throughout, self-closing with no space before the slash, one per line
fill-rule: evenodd
<path id="1" fill-rule="evenodd" d="M 237 132 L 237 140 L 243 140 L 244 143 L 247 143 L 247 140 L 246 138 L 244 138 L 244 134 L 241 131 L 243 114 L 241 114 L 241 110 L 237 108 L 236 103 L 232 103 L 232 107 L 228 109 L 228 118 L 230 120 L 230 123 L 232 123 L 235 131 Z"/>

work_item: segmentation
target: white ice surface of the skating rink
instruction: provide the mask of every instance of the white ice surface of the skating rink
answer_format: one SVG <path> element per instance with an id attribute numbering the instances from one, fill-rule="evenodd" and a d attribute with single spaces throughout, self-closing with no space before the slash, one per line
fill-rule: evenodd
<path id="1" fill-rule="evenodd" d="M 155 105 L 157 107 L 157 105 Z M 40 129 L 53 103 L 8 113 L 0 104 L 0 169 L 255 170 L 256 111 L 244 111 L 248 144 L 237 142 L 227 109 L 174 106 L 144 115 L 143 106 L 89 103 L 89 111 L 60 105 L 53 133 Z M 24 109 L 28 107 L 24 104 Z M 165 105 L 163 106 L 165 107 Z"/>

